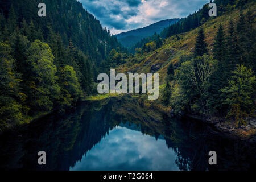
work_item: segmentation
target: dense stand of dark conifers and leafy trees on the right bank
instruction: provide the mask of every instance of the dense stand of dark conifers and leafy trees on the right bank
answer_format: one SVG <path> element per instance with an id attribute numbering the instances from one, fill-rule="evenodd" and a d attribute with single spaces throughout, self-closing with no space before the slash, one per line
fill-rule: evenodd
<path id="1" fill-rule="evenodd" d="M 222 23 L 215 28 L 212 45 L 200 27 L 193 53 L 181 56 L 177 69 L 168 66 L 163 100 L 176 113 L 245 126 L 255 118 L 255 13 L 240 7 L 237 20 L 230 19 L 225 30 Z"/>

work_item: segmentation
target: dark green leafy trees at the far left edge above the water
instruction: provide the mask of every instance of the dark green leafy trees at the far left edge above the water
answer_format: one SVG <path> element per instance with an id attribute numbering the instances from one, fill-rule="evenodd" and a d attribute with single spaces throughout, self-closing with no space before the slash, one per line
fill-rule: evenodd
<path id="1" fill-rule="evenodd" d="M 20 92 L 19 75 L 14 70 L 11 47 L 0 43 L 0 131 L 3 127 L 24 121 L 22 110 L 27 111 L 18 101 L 26 98 Z"/>

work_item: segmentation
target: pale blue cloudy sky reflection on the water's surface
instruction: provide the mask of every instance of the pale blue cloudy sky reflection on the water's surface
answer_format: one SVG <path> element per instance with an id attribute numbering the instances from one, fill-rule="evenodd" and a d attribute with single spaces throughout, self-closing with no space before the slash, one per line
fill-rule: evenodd
<path id="1" fill-rule="evenodd" d="M 118 126 L 69 169 L 71 171 L 177 171 L 179 167 L 175 162 L 176 158 L 176 153 L 171 148 L 167 148 L 166 140 L 156 141 L 155 137 L 142 135 L 141 131 Z"/>

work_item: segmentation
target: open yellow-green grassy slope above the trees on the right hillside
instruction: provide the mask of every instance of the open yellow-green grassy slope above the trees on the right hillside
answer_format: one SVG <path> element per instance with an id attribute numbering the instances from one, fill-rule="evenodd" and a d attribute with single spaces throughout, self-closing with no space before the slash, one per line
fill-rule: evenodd
<path id="1" fill-rule="evenodd" d="M 246 13 L 249 10 L 255 9 L 256 5 L 253 3 L 242 12 Z M 227 13 L 209 20 L 200 26 L 203 27 L 205 31 L 206 42 L 211 54 L 214 36 L 216 35 L 220 24 L 222 24 L 226 30 L 229 20 L 238 20 L 239 14 L 240 10 L 236 9 L 232 11 L 232 13 Z M 168 65 L 172 63 L 178 67 L 180 59 L 182 59 L 183 56 L 191 55 L 193 53 L 199 28 L 164 39 L 163 46 L 155 51 L 146 54 L 137 53 L 133 58 L 127 59 L 125 64 L 119 66 L 117 68 L 118 72 L 159 73 L 160 85 L 163 85 L 164 79 L 167 76 Z"/>

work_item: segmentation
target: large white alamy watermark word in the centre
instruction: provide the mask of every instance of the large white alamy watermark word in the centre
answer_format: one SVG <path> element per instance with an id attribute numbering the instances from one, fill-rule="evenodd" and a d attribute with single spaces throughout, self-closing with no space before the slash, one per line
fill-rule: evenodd
<path id="1" fill-rule="evenodd" d="M 148 100 L 156 100 L 159 97 L 159 75 L 154 74 L 154 88 L 152 87 L 152 74 L 148 73 L 147 76 L 144 73 L 139 75 L 138 73 L 129 73 L 129 94 L 133 93 L 148 93 Z M 134 82 L 135 80 L 135 82 Z M 106 73 L 98 75 L 98 93 L 109 93 L 109 76 Z M 119 81 L 115 85 L 115 81 Z M 141 83 L 141 84 L 140 84 Z M 124 73 L 119 73 L 115 76 L 115 69 L 110 69 L 110 93 L 125 93 L 127 94 L 127 77 Z"/>

